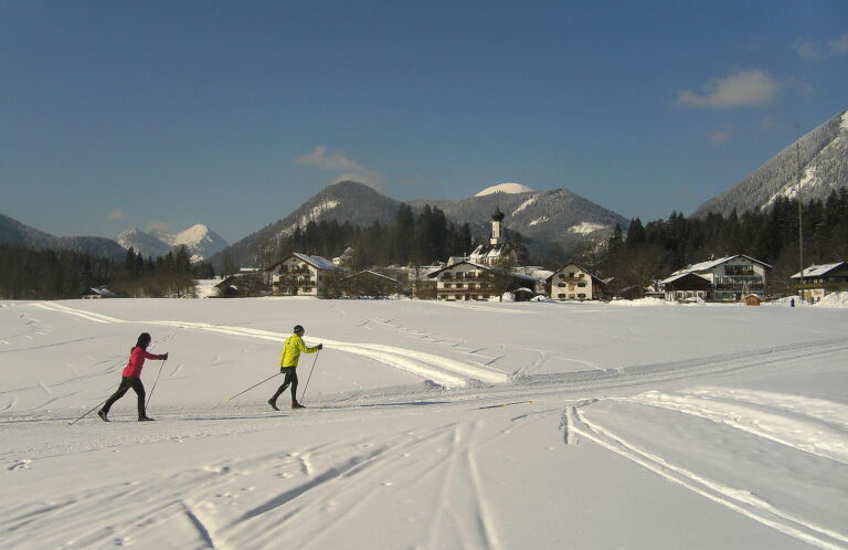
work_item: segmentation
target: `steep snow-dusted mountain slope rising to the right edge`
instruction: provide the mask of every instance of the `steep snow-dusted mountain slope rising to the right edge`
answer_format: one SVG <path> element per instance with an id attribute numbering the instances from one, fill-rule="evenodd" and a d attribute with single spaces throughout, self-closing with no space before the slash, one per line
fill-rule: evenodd
<path id="1" fill-rule="evenodd" d="M 798 186 L 801 160 L 801 186 Z M 804 202 L 824 200 L 833 190 L 848 188 L 848 110 L 834 116 L 745 179 L 701 204 L 695 216 L 710 212 L 724 215 L 767 209 L 781 197 L 796 198 L 801 187 Z"/>

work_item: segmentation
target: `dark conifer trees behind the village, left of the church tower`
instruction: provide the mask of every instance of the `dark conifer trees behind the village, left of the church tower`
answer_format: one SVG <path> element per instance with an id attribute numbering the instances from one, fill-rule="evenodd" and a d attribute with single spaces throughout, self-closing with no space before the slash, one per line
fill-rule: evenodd
<path id="1" fill-rule="evenodd" d="M 524 251 L 520 235 L 513 235 L 516 245 Z M 445 213 L 425 205 L 415 215 L 407 204 L 400 204 L 391 223 L 373 222 L 365 228 L 337 221 L 310 221 L 306 228 L 279 243 L 266 243 L 256 251 L 259 264 L 269 265 L 293 252 L 324 256 L 332 260 L 347 247 L 353 248 L 350 266 L 365 269 L 384 265 L 427 265 L 444 262 L 449 256 L 469 254 L 476 246 L 468 223 L 448 222 Z M 233 273 L 235 266 L 224 258 L 224 271 Z"/>

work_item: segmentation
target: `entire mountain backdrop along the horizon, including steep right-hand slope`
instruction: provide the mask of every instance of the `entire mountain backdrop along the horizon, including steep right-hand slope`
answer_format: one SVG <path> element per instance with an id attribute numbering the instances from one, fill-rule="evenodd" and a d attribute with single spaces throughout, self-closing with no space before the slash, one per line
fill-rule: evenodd
<path id="1" fill-rule="evenodd" d="M 709 212 L 727 215 L 734 209 L 739 213 L 767 209 L 780 197 L 796 197 L 798 159 L 801 192 L 805 202 L 825 199 L 833 190 L 848 188 L 848 112 L 839 113 L 789 145 L 734 187 L 704 202 L 692 215 L 706 216 Z M 558 243 L 566 252 L 607 239 L 616 223 L 626 231 L 628 223 L 622 215 L 565 189 L 533 191 L 520 183 L 492 186 L 466 199 L 406 202 L 417 211 L 425 204 L 437 207 L 445 212 L 448 221 L 456 224 L 467 222 L 478 236 L 488 234 L 490 215 L 499 208 L 506 214 L 504 222 L 508 230 L 517 231 L 537 243 Z M 130 246 L 150 257 L 186 245 L 193 261 L 209 260 L 214 255 L 215 264 L 221 265 L 221 258 L 226 254 L 236 265 L 255 266 L 259 264 L 263 253 L 276 251 L 283 239 L 310 221 L 336 220 L 360 226 L 374 221 L 390 223 L 398 213 L 399 204 L 399 201 L 370 187 L 344 181 L 322 189 L 285 218 L 232 246 L 227 246 L 220 235 L 203 224 L 177 234 L 132 229 L 121 233 L 115 242 L 96 236 L 54 236 L 3 214 L 0 214 L 0 242 L 72 248 L 116 260 L 124 258 Z"/>

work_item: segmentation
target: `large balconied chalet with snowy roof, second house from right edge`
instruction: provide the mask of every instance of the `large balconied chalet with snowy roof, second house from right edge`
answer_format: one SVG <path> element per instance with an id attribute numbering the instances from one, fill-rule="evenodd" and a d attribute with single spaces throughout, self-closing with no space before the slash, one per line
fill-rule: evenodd
<path id="1" fill-rule="evenodd" d="M 766 272 L 771 268 L 771 265 L 759 260 L 744 254 L 736 254 L 735 256 L 689 265 L 672 273 L 669 279 L 677 275 L 690 273 L 700 275 L 710 283 L 707 299 L 739 302 L 749 294 L 755 294 L 761 298 L 765 297 Z"/>

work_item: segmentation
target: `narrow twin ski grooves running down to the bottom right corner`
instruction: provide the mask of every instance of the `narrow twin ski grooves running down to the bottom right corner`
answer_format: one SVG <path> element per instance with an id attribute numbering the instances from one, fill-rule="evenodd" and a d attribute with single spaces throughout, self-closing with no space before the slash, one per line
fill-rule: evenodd
<path id="1" fill-rule="evenodd" d="M 825 549 L 848 548 L 848 535 L 816 525 L 788 514 L 759 498 L 751 491 L 730 487 L 720 482 L 669 463 L 660 456 L 639 448 L 597 423 L 589 421 L 582 408 L 597 400 L 584 400 L 563 413 L 561 427 L 566 444 L 574 444 L 574 435 L 582 435 L 602 447 L 632 461 L 671 483 L 686 487 L 731 510 L 794 537 L 808 544 Z M 637 400 L 638 401 L 638 400 Z"/>

